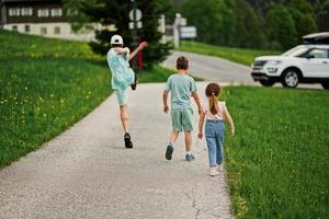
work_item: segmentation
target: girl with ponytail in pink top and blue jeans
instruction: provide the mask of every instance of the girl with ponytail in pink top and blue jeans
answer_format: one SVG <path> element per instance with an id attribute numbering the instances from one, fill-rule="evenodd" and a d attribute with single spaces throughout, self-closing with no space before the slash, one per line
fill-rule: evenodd
<path id="1" fill-rule="evenodd" d="M 224 160 L 224 136 L 225 126 L 224 120 L 227 119 L 230 126 L 231 138 L 235 135 L 235 124 L 230 117 L 225 102 L 217 101 L 220 93 L 220 87 L 217 83 L 209 83 L 206 87 L 205 94 L 208 97 L 208 106 L 200 114 L 198 122 L 198 135 L 200 139 L 203 138 L 203 125 L 206 119 L 205 125 L 205 138 L 207 141 L 211 175 L 215 176 L 219 174 Z"/>

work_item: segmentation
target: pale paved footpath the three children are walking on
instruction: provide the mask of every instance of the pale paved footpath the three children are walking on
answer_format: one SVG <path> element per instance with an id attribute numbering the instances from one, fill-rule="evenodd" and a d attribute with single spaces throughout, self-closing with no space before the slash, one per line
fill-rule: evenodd
<path id="1" fill-rule="evenodd" d="M 164 160 L 170 119 L 161 112 L 162 88 L 141 84 L 131 94 L 135 149 L 123 148 L 112 95 L 42 149 L 0 171 L 0 218 L 231 218 L 225 173 L 208 176 L 204 141 L 194 137 L 192 163 L 183 160 L 182 137 L 173 160 Z"/>

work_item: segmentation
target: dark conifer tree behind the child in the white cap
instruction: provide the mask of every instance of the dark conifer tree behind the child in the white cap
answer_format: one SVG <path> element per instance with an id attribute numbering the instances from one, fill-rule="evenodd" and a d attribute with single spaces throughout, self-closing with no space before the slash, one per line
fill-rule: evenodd
<path id="1" fill-rule="evenodd" d="M 104 55 L 110 48 L 110 39 L 114 34 L 123 36 L 125 45 L 135 46 L 132 31 L 129 30 L 128 13 L 132 9 L 131 0 L 75 0 L 73 9 L 76 15 L 88 18 L 88 22 L 102 24 L 101 30 L 95 30 L 97 42 L 90 43 L 94 53 Z M 148 49 L 144 51 L 146 67 L 162 61 L 169 55 L 169 44 L 160 44 L 161 33 L 158 31 L 159 14 L 163 12 L 163 2 L 156 0 L 138 0 L 137 8 L 143 12 L 143 28 L 138 30 L 140 41 L 149 43 Z M 82 15 L 81 15 L 82 14 Z M 115 25 L 116 31 L 109 26 Z"/>

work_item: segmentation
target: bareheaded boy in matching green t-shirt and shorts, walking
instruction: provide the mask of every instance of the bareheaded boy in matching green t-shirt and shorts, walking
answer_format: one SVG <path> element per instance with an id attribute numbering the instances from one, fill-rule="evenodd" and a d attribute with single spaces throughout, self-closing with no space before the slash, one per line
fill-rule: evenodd
<path id="1" fill-rule="evenodd" d="M 193 130 L 193 110 L 191 105 L 191 95 L 197 104 L 201 112 L 201 102 L 196 93 L 194 79 L 188 76 L 189 60 L 181 56 L 177 59 L 177 73 L 169 77 L 163 91 L 163 112 L 169 112 L 167 104 L 168 94 L 171 92 L 171 123 L 172 131 L 170 141 L 166 150 L 166 159 L 171 160 L 174 142 L 178 139 L 180 131 L 185 134 L 185 160 L 194 160 L 192 154 L 192 130 Z"/>

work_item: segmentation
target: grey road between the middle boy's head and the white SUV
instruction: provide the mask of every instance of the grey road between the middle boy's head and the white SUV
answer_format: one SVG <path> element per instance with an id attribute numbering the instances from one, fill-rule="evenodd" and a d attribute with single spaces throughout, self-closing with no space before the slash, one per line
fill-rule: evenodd
<path id="1" fill-rule="evenodd" d="M 208 81 L 253 83 L 251 69 L 218 57 L 204 56 L 186 51 L 172 51 L 162 62 L 167 68 L 173 69 L 179 56 L 190 59 L 190 72 Z"/>

